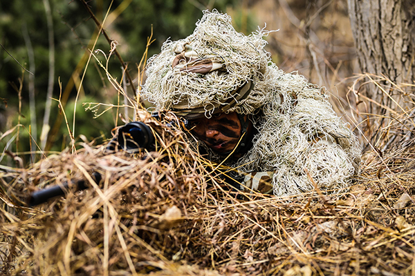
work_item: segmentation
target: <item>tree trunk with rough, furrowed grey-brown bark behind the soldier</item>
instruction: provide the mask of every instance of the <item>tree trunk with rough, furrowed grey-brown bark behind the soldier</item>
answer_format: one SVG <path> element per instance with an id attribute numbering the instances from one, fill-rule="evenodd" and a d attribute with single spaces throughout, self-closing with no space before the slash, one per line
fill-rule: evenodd
<path id="1" fill-rule="evenodd" d="M 399 92 L 394 84 L 414 84 L 415 1 L 347 2 L 361 72 L 385 76 L 385 79 L 378 82 L 384 91 L 374 84 L 365 86 L 365 90 L 360 91 L 372 100 L 366 101 L 367 112 L 385 114 L 385 106 L 391 108 L 389 111 L 399 108 L 397 104 L 405 107 L 407 99 L 403 99 L 403 93 Z"/>

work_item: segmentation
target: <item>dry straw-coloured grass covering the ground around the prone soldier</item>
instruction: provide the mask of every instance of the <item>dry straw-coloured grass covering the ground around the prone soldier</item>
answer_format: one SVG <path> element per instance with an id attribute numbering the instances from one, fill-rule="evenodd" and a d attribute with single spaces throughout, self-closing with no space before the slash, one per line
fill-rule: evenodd
<path id="1" fill-rule="evenodd" d="M 365 163 L 349 193 L 331 197 L 234 199 L 214 164 L 198 157 L 180 132 L 155 122 L 157 152 L 104 154 L 100 146 L 80 144 L 76 154 L 61 152 L 28 169 L 2 167 L 1 271 L 414 275 L 411 111 L 388 117 L 356 111 L 365 118 L 359 126 Z M 102 183 L 92 181 L 93 171 L 104 176 Z M 19 207 L 37 188 L 82 178 L 89 190 Z"/>

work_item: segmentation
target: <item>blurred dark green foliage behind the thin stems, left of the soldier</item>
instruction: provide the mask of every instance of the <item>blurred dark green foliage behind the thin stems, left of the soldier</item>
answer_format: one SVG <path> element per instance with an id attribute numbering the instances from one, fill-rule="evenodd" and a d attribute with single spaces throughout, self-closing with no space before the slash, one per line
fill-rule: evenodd
<path id="1" fill-rule="evenodd" d="M 109 138 L 110 131 L 115 126 L 116 117 L 121 112 L 118 110 L 117 113 L 117 110 L 113 109 L 101 117 L 93 119 L 92 112 L 85 111 L 82 107 L 83 102 L 116 104 L 118 95 L 95 59 L 92 58 L 86 67 L 86 60 L 89 56 L 88 49 L 92 48 L 98 29 L 80 0 L 1 1 L 0 44 L 3 48 L 0 48 L 0 136 L 16 126 L 18 122 L 24 126 L 19 130 L 18 148 L 16 148 L 16 140 L 10 143 L 7 148 L 12 152 L 30 150 L 28 135 L 30 127 L 29 74 L 22 69 L 22 66 L 27 70 L 35 66 L 35 113 L 37 115 L 35 141 L 39 141 L 42 130 L 48 90 L 50 51 L 44 5 L 46 2 L 50 3 L 55 46 L 53 98 L 59 99 L 59 94 L 62 92 L 64 112 L 68 117 L 68 126 L 71 131 L 74 102 L 77 97 L 77 85 L 73 85 L 73 75 L 75 75 L 75 80 L 79 81 L 84 69 L 87 68 L 77 101 L 75 137 L 84 135 L 91 140 L 104 135 Z M 212 5 L 212 3 L 214 4 Z M 137 74 L 136 68 L 145 52 L 147 37 L 151 35 L 151 32 L 153 32 L 153 38 L 156 41 L 149 47 L 148 57 L 157 54 L 166 39 L 177 40 L 191 34 L 196 21 L 202 16 L 203 8 L 216 8 L 225 12 L 228 7 L 233 8 L 238 3 L 237 0 L 116 0 L 112 2 L 111 6 L 109 0 L 88 1 L 95 17 L 100 21 L 104 19 L 111 6 L 109 10 L 111 16 L 107 18 L 111 22 L 105 25 L 105 29 L 111 39 L 118 41 L 117 50 L 124 61 L 129 63 L 129 72 L 133 78 Z M 120 10 L 122 6 L 126 8 Z M 120 10 L 119 13 L 114 12 L 118 10 Z M 33 48 L 35 64 L 30 64 L 29 43 Z M 100 35 L 95 46 L 96 49 L 102 50 L 106 55 L 109 54 L 110 46 L 103 35 Z M 99 55 L 99 59 L 105 62 L 103 55 Z M 111 57 L 109 60 L 109 72 L 120 81 L 122 68 L 115 57 Z M 62 83 L 60 86 L 58 79 Z M 21 113 L 19 113 L 17 92 L 19 88 L 21 89 Z M 46 150 L 62 150 L 69 144 L 68 127 L 62 110 L 58 108 L 57 101 L 52 101 L 50 114 L 49 125 L 52 130 L 50 130 Z M 118 125 L 120 124 L 123 123 L 118 120 Z M 0 152 L 3 152 L 14 133 L 0 141 Z M 37 156 L 39 157 L 39 155 Z M 24 158 L 28 159 L 27 155 Z M 4 157 L 1 162 L 5 163 L 6 159 L 8 157 Z M 6 163 L 10 164 L 10 160 Z"/>

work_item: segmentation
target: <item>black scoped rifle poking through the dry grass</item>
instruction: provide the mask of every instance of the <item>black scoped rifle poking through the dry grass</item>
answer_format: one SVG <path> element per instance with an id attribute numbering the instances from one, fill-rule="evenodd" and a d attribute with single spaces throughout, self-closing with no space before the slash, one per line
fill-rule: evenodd
<path id="1" fill-rule="evenodd" d="M 118 130 L 118 134 L 109 142 L 106 152 L 114 152 L 116 149 L 125 150 L 127 152 L 136 153 L 142 149 L 154 149 L 154 135 L 151 128 L 142 121 L 133 121 L 128 123 Z M 99 172 L 93 172 L 93 179 L 97 184 L 102 180 L 102 175 Z M 66 195 L 70 188 L 75 190 L 85 190 L 89 188 L 84 179 L 65 182 L 62 185 L 50 186 L 48 188 L 37 190 L 33 192 L 27 199 L 29 206 L 36 206 L 42 204 L 53 197 Z"/>

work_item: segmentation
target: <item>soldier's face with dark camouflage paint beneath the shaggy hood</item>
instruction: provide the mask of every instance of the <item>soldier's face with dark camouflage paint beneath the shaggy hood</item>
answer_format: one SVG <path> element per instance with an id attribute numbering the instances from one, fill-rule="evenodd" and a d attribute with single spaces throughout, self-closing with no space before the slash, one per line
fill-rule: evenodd
<path id="1" fill-rule="evenodd" d="M 194 135 L 212 150 L 225 153 L 233 150 L 241 138 L 241 122 L 236 112 L 219 113 L 212 118 L 189 121 Z"/>

